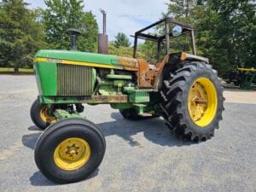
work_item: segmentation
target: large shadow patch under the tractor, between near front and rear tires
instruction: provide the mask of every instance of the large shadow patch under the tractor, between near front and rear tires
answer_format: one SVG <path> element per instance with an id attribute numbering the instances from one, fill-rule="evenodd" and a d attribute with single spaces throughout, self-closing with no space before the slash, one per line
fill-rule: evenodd
<path id="1" fill-rule="evenodd" d="M 127 120 L 120 113 L 111 113 L 115 121 L 98 124 L 105 137 L 117 135 L 123 138 L 132 147 L 140 147 L 141 144 L 132 136 L 143 132 L 143 136 L 149 141 L 162 146 L 184 146 L 194 143 L 183 141 L 165 125 L 165 120 L 160 118 L 144 120 Z"/>

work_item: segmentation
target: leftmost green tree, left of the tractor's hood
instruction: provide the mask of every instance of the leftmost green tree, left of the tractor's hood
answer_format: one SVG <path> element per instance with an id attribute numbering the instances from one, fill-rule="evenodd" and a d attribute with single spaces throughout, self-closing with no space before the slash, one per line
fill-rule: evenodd
<path id="1" fill-rule="evenodd" d="M 46 46 L 37 13 L 26 5 L 23 0 L 4 0 L 0 5 L 0 64 L 15 67 L 15 73 L 32 63 L 38 48 Z"/>

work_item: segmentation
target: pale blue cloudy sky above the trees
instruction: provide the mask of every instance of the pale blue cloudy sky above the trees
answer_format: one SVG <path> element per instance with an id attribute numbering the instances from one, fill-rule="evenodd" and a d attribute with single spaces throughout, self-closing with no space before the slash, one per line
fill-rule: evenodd
<path id="1" fill-rule="evenodd" d="M 25 0 L 29 8 L 46 8 L 44 0 Z M 112 41 L 118 32 L 127 36 L 160 19 L 169 0 L 84 0 L 84 11 L 92 11 L 102 32 L 102 13 L 107 12 L 107 33 Z M 132 41 L 132 38 L 130 38 Z"/>

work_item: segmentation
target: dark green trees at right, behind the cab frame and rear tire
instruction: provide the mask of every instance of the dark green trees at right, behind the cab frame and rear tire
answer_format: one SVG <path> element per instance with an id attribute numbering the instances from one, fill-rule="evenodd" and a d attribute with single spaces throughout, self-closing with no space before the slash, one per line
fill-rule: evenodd
<path id="1" fill-rule="evenodd" d="M 197 53 L 210 59 L 223 74 L 230 67 L 256 67 L 255 3 L 241 0 L 189 1 L 169 3 L 168 13 L 175 20 L 195 27 Z"/>

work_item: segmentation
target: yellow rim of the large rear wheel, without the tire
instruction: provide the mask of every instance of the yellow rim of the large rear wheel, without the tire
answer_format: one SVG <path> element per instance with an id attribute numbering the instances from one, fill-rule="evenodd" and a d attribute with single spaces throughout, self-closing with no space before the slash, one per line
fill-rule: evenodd
<path id="1" fill-rule="evenodd" d="M 204 127 L 211 124 L 218 106 L 217 90 L 212 81 L 207 78 L 196 79 L 188 97 L 189 116 L 195 125 Z"/>

